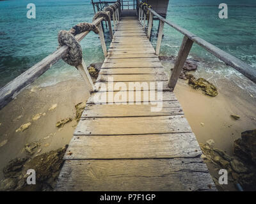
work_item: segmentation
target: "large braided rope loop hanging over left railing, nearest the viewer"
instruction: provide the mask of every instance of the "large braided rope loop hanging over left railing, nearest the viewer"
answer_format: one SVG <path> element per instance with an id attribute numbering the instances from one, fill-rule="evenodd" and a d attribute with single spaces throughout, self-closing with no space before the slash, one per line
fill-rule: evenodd
<path id="1" fill-rule="evenodd" d="M 58 33 L 58 41 L 60 46 L 67 45 L 69 47 L 67 55 L 61 57 L 63 61 L 71 66 L 78 66 L 82 63 L 82 48 L 74 35 L 69 31 L 60 31 Z"/>

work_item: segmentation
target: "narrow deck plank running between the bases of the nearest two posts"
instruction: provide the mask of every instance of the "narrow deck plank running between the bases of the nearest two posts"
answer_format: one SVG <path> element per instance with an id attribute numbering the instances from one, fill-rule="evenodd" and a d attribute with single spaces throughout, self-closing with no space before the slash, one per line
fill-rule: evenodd
<path id="1" fill-rule="evenodd" d="M 134 83 L 132 87 L 129 86 L 129 83 Z M 147 85 L 145 85 L 147 83 Z M 122 82 L 125 87 L 127 87 L 127 91 L 134 91 L 134 90 L 157 90 L 157 82 L 155 82 L 155 86 L 150 86 L 152 82 Z M 163 91 L 170 91 L 168 87 L 168 82 L 163 81 Z M 145 86 L 144 86 L 145 85 Z M 143 88 L 141 88 L 143 86 Z M 95 91 L 120 91 L 120 82 L 113 82 L 113 86 L 109 86 L 108 82 L 96 82 L 95 83 Z"/>

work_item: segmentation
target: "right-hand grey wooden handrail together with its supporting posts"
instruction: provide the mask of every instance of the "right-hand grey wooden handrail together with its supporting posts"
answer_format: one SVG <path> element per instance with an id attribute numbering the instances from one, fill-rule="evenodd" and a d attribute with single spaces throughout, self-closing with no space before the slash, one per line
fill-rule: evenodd
<path id="1" fill-rule="evenodd" d="M 175 84 L 177 82 L 177 77 L 179 77 L 180 71 L 181 71 L 182 67 L 184 66 L 184 62 L 186 61 L 186 58 L 188 57 L 188 55 L 186 56 L 186 52 L 188 52 L 188 54 L 189 54 L 189 51 L 192 47 L 193 42 L 195 42 L 200 47 L 207 50 L 207 52 L 210 52 L 211 54 L 218 57 L 218 59 L 225 62 L 227 65 L 232 66 L 232 68 L 234 68 L 237 71 L 239 71 L 240 73 L 242 73 L 245 77 L 252 80 L 252 82 L 256 83 L 256 69 L 254 69 L 252 66 L 246 64 L 245 62 L 241 61 L 240 59 L 237 59 L 237 57 L 234 57 L 233 55 L 228 54 L 227 52 L 225 52 L 225 51 L 221 50 L 220 48 L 212 45 L 211 43 L 203 40 L 202 38 L 199 38 L 195 34 L 187 31 L 186 29 L 180 27 L 179 25 L 176 25 L 176 24 L 173 24 L 173 22 L 167 21 L 164 17 L 161 17 L 161 15 L 156 13 L 156 11 L 154 11 L 152 8 L 148 8 L 148 11 L 150 12 L 150 15 L 157 17 L 160 20 L 160 22 L 162 22 L 162 24 L 166 23 L 167 25 L 170 25 L 175 30 L 179 31 L 179 33 L 182 33 L 184 35 L 184 40 L 182 41 L 182 46 L 180 47 L 180 52 L 179 52 L 179 55 L 177 58 L 177 62 L 175 64 L 175 67 L 177 70 L 175 71 L 175 68 L 174 68 L 172 77 L 170 78 L 170 81 L 169 81 L 169 87 L 171 89 L 174 89 L 174 87 L 175 87 Z M 142 9 L 141 9 L 141 12 L 145 13 L 145 11 L 143 11 Z M 151 25 L 152 18 L 153 18 L 152 16 L 149 17 L 149 20 L 151 22 L 148 23 L 148 28 L 150 28 L 150 31 L 151 31 L 151 27 L 152 27 L 152 25 Z M 141 18 L 141 17 L 139 17 L 139 18 Z M 148 36 L 150 36 L 150 31 L 148 31 Z M 163 31 L 163 27 L 162 27 L 162 31 Z M 159 29 L 159 32 L 161 32 L 161 29 Z M 161 37 L 159 37 L 159 35 L 158 35 L 158 38 L 161 38 Z M 159 47 L 161 46 L 161 40 L 159 43 L 157 43 L 157 45 L 159 45 Z M 159 54 L 159 52 L 158 52 L 158 54 Z M 174 74 L 175 74 L 175 76 L 173 76 Z M 171 80 L 173 82 L 171 82 Z M 175 82 L 175 80 L 176 80 L 176 82 Z"/>

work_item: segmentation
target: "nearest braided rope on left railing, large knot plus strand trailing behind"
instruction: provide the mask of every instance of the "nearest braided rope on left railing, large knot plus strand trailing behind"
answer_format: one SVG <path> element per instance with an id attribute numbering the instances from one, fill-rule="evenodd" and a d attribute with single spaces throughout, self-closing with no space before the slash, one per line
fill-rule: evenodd
<path id="1" fill-rule="evenodd" d="M 63 55 L 61 58 L 71 66 L 78 66 L 82 63 L 82 48 L 79 42 L 76 40 L 75 35 L 85 31 L 93 31 L 96 34 L 99 33 L 98 28 L 89 23 L 77 24 L 73 26 L 70 31 L 60 31 L 58 33 L 59 47 L 62 45 L 67 45 L 69 48 L 67 54 Z"/>

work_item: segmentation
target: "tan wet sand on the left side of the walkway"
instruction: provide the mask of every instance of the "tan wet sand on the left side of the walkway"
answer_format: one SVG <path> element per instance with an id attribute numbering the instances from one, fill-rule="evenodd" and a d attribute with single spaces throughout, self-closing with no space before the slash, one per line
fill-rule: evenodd
<path id="1" fill-rule="evenodd" d="M 40 142 L 40 153 L 49 152 L 68 144 L 76 128 L 76 120 L 68 122 L 63 128 L 57 128 L 56 122 L 76 116 L 75 105 L 86 101 L 90 93 L 81 78 L 69 80 L 49 87 L 31 85 L 16 99 L 0 111 L 0 180 L 3 179 L 3 167 L 15 157 L 29 156 L 24 151 L 26 143 Z M 49 110 L 52 105 L 56 108 Z M 33 120 L 37 113 L 45 113 Z M 23 132 L 16 130 L 31 122 Z M 6 142 L 7 140 L 7 142 Z M 6 142 L 6 143 L 5 143 Z M 5 143 L 5 144 L 4 144 Z M 35 153 L 33 156 L 36 156 Z"/>

